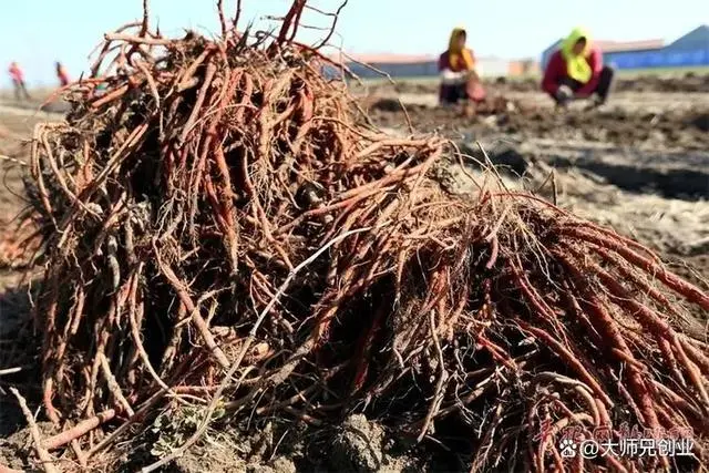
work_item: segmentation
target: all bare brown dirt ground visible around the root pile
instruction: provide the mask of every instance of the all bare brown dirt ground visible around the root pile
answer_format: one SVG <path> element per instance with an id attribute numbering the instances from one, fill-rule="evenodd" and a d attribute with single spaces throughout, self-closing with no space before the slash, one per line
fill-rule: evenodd
<path id="1" fill-rule="evenodd" d="M 677 273 L 709 289 L 709 75 L 621 80 L 610 102 L 589 113 L 582 112 L 580 104 L 556 113 L 534 82 L 489 84 L 487 89 L 511 99 L 514 106 L 464 117 L 459 110 L 434 107 L 431 84 L 376 85 L 356 92 L 381 127 L 392 133 L 409 133 L 410 125 L 420 132 L 439 131 L 472 156 L 466 172 L 458 166 L 449 169 L 446 178 L 455 191 L 476 185 L 467 177 L 476 175 L 475 160 L 490 157 L 501 166 L 508 186 L 535 189 L 562 207 L 633 236 L 658 250 Z M 61 120 L 61 115 L 0 104 L 0 155 L 25 160 L 21 140 L 43 120 Z M 0 191 L 0 232 L 6 232 L 22 208 L 22 165 L 8 160 L 1 164 L 7 172 Z M 0 343 L 28 320 L 24 282 L 21 273 L 0 270 Z M 12 359 L 0 357 L 0 372 L 11 367 Z M 11 381 L 11 376 L 0 374 L 0 466 L 28 469 L 31 442 L 7 391 Z M 37 380 L 30 376 L 24 382 L 31 391 Z M 179 445 L 195 421 L 189 413 L 165 413 L 155 422 L 160 434 L 134 432 L 135 441 L 122 444 L 122 456 L 104 471 L 134 471 L 131 465 L 141 459 Z M 47 423 L 40 428 L 51 432 Z M 458 471 L 464 464 L 435 446 L 423 451 L 395 442 L 361 417 L 320 432 L 264 420 L 258 431 L 242 438 L 238 429 L 223 430 L 217 423 L 202 446 L 166 471 L 413 472 Z"/>

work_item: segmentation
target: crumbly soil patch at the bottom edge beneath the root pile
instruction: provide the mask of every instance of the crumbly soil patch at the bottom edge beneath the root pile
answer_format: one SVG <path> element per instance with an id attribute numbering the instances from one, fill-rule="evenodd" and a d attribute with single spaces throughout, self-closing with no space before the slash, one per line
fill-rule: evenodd
<path id="1" fill-rule="evenodd" d="M 247 473 L 296 472 L 458 472 L 466 471 L 464 461 L 439 452 L 435 445 L 402 442 L 377 422 L 356 414 L 340 425 L 310 428 L 282 420 L 265 420 L 258 428 L 222 425 L 207 433 L 209 445 L 203 444 L 176 460 L 165 472 Z M 164 435 L 165 431 L 158 433 Z M 151 463 L 150 445 L 161 440 L 136 438 L 120 471 L 136 471 Z M 425 444 L 425 442 L 424 442 Z M 444 452 L 443 452 L 444 453 Z"/>

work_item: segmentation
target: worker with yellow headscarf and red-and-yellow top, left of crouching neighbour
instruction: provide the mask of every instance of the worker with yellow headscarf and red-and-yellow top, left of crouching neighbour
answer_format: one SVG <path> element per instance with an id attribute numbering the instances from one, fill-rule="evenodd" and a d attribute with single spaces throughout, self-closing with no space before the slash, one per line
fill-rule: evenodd
<path id="1" fill-rule="evenodd" d="M 485 91 L 475 70 L 475 56 L 473 51 L 465 48 L 466 39 L 467 33 L 463 28 L 453 29 L 448 51 L 439 58 L 441 104 L 454 104 L 460 100 L 485 100 Z"/>

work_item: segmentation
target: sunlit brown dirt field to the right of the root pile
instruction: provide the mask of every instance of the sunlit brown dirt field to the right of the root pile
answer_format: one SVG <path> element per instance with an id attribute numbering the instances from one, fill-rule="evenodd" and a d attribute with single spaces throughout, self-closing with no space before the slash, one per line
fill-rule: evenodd
<path id="1" fill-rule="evenodd" d="M 699 79 L 709 81 L 709 75 Z M 699 79 L 674 86 L 658 78 L 639 83 L 677 91 L 693 88 Z M 555 112 L 537 105 L 540 95 L 515 95 L 515 110 L 473 117 L 391 91 L 372 93 L 366 103 L 380 126 L 403 132 L 410 120 L 417 131 L 435 130 L 484 158 L 474 145 L 479 141 L 495 164 L 524 175 L 512 185 L 535 188 L 554 169 L 562 206 L 660 251 L 677 273 L 709 288 L 706 94 L 625 93 L 590 112 L 582 112 L 582 104 Z M 644 107 L 648 95 L 655 110 Z"/>

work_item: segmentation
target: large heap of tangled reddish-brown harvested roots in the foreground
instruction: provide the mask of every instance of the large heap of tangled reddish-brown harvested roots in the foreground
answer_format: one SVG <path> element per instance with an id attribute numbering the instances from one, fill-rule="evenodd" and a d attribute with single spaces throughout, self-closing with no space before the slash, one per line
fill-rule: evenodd
<path id="1" fill-rule="evenodd" d="M 706 461 L 708 345 L 686 308 L 709 295 L 532 195 L 446 194 L 430 176 L 454 146 L 368 124 L 294 40 L 304 8 L 274 37 L 107 34 L 66 122 L 37 128 L 35 323 L 64 431 L 43 445 L 86 462 L 202 405 L 187 448 L 219 404 L 363 411 L 477 471 Z M 559 454 L 564 426 L 624 424 L 690 430 L 696 456 Z"/>

